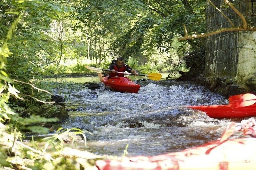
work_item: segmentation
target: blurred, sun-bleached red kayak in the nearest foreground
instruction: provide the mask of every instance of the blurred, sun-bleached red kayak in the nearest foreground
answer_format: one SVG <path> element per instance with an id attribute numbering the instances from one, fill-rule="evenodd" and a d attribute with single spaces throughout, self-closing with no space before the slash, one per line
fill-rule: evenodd
<path id="1" fill-rule="evenodd" d="M 252 138 L 228 139 L 235 131 L 243 131 Z M 236 125 L 232 122 L 217 141 L 186 149 L 180 152 L 156 156 L 135 156 L 97 160 L 100 170 L 130 169 L 211 169 L 240 170 L 256 168 L 255 120 Z"/>

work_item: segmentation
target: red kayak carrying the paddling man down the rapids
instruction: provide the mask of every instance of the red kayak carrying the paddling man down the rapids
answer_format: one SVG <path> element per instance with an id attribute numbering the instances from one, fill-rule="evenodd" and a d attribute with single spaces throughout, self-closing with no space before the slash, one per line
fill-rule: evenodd
<path id="1" fill-rule="evenodd" d="M 119 92 L 137 93 L 140 90 L 140 85 L 134 83 L 130 78 L 127 77 L 102 77 L 103 74 L 99 73 L 100 81 L 106 86 Z"/>

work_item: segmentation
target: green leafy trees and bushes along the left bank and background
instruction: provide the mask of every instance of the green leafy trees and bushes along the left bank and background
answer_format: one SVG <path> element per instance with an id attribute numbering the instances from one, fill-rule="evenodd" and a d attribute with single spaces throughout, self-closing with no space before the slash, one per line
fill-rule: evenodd
<path id="1" fill-rule="evenodd" d="M 44 153 L 51 144 L 62 150 L 63 134 L 72 136 L 72 146 L 77 134 L 84 136 L 79 129 L 57 131 L 46 138 L 42 151 L 36 144 L 37 150 L 20 144 L 20 157 L 2 148 L 8 146 L 10 151 L 22 137 L 20 132 L 47 133 L 47 128 L 37 125 L 56 121 L 35 116 L 35 110 L 50 101 L 53 88 L 61 93 L 60 88 L 71 84 L 60 86 L 43 78 L 88 72 L 85 64 L 108 68 L 110 60 L 119 56 L 140 73 L 183 69 L 182 56 L 188 47 L 200 49 L 204 40 L 179 43 L 175 37 L 184 34 L 183 23 L 189 33 L 204 31 L 205 6 L 203 0 L 0 1 L 0 123 L 8 125 L 8 133 L 3 134 L 10 135 L 9 139 L 0 137 L 4 143 L 0 163 L 22 169 L 19 161 L 27 158 L 35 160 L 29 166 L 34 169 L 76 168 L 73 159 L 56 156 L 53 160 Z M 86 146 L 85 136 L 84 141 Z M 2 161 L 3 157 L 8 160 Z"/>

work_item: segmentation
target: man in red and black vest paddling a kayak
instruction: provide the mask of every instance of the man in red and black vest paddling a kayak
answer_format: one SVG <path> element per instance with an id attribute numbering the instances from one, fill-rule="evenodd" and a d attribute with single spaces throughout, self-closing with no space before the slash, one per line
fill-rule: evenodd
<path id="1" fill-rule="evenodd" d="M 124 73 L 124 71 L 127 71 L 128 73 L 133 73 L 134 76 L 138 76 L 138 73 L 137 73 L 136 70 L 132 69 L 127 64 L 124 64 L 124 58 L 123 57 L 117 58 L 116 63 L 111 64 L 108 67 L 107 70 L 111 71 L 111 73 L 109 74 L 109 78 L 111 78 L 111 77 L 124 77 L 124 74 L 116 73 L 116 71 L 123 72 L 123 73 Z"/>

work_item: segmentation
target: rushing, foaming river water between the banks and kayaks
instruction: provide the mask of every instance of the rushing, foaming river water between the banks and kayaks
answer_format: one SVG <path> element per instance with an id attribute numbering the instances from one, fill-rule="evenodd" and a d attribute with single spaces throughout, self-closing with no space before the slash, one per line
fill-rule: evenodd
<path id="1" fill-rule="evenodd" d="M 131 78 L 134 78 L 130 76 Z M 217 140 L 231 121 L 213 119 L 204 112 L 189 109 L 192 105 L 226 104 L 227 100 L 191 82 L 172 79 L 152 81 L 136 77 L 138 93 L 113 92 L 100 84 L 100 89 L 56 89 L 68 92 L 64 102 L 69 118 L 58 124 L 79 128 L 86 133 L 78 147 L 100 155 L 121 156 L 128 146 L 128 156 L 158 155 Z M 66 81 L 99 82 L 97 77 L 70 78 Z M 237 133 L 233 138 L 242 137 Z"/>

